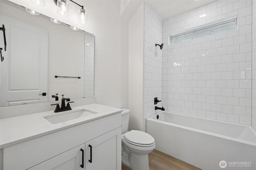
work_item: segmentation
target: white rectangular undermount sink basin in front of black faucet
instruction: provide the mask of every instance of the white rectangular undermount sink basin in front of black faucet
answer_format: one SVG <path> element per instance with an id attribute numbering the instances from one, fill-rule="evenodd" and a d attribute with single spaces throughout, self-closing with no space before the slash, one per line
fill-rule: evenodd
<path id="1" fill-rule="evenodd" d="M 61 123 L 64 121 L 69 121 L 72 119 L 77 119 L 80 117 L 85 117 L 89 115 L 93 115 L 97 112 L 90 111 L 87 109 L 77 109 L 77 110 L 69 110 L 69 111 L 63 111 L 60 113 L 55 113 L 53 115 L 44 116 L 44 119 L 49 121 L 52 124 Z"/>

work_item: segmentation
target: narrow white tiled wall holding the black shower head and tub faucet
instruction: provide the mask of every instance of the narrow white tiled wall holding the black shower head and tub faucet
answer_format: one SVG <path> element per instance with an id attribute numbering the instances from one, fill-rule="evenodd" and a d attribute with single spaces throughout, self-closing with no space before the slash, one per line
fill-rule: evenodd
<path id="1" fill-rule="evenodd" d="M 177 25 L 181 16 L 176 16 Z M 183 24 L 183 23 L 180 23 Z M 144 131 L 146 118 L 154 115 L 154 98 L 162 100 L 162 50 L 155 44 L 162 44 L 162 18 L 145 3 L 144 6 Z M 164 44 L 168 46 L 168 44 Z M 173 63 L 174 64 L 174 63 Z M 177 70 L 179 72 L 179 70 Z"/>

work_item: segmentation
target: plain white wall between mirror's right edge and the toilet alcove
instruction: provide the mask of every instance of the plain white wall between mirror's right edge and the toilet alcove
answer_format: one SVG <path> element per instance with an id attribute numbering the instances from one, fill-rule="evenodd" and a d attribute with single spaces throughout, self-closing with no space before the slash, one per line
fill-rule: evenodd
<path id="1" fill-rule="evenodd" d="M 86 31 L 95 35 L 94 88 L 97 103 L 123 107 L 125 104 L 121 98 L 120 1 L 86 1 L 84 5 L 90 9 L 90 29 Z"/>

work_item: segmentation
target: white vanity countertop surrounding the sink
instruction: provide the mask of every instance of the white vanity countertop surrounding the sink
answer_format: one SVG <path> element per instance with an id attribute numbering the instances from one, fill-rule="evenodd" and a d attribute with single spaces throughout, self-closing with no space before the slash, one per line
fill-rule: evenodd
<path id="1" fill-rule="evenodd" d="M 0 149 L 122 111 L 122 109 L 100 104 L 72 107 L 72 110 L 76 109 L 88 109 L 97 113 L 57 124 L 52 124 L 43 117 L 58 114 L 54 111 L 0 119 Z"/>

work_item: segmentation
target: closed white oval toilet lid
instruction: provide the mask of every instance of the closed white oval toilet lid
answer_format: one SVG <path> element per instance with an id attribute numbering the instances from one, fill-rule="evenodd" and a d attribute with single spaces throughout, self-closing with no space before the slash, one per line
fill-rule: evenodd
<path id="1" fill-rule="evenodd" d="M 151 145 L 155 139 L 148 133 L 132 130 L 124 135 L 126 141 L 140 145 Z"/>

